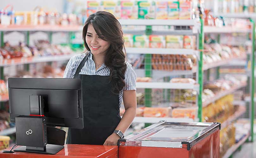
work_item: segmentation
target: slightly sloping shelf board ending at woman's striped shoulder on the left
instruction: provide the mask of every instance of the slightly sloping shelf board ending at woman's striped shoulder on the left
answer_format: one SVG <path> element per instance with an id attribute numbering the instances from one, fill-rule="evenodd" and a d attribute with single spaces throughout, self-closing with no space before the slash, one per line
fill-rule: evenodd
<path id="1" fill-rule="evenodd" d="M 52 62 L 52 61 L 65 61 L 69 60 L 71 55 L 55 55 L 46 57 L 22 57 L 22 58 L 11 58 L 0 60 L 0 66 L 10 66 L 10 65 L 20 65 L 20 64 L 31 64 L 31 63 L 41 63 L 41 62 Z"/>

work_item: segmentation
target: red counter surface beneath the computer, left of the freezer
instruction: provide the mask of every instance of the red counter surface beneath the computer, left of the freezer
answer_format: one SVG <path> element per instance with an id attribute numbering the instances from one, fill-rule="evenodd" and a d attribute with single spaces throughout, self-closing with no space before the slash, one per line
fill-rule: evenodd
<path id="1" fill-rule="evenodd" d="M 10 150 L 5 149 L 5 150 Z M 55 155 L 15 152 L 0 152 L 0 158 L 117 158 L 117 146 L 66 144 Z"/>

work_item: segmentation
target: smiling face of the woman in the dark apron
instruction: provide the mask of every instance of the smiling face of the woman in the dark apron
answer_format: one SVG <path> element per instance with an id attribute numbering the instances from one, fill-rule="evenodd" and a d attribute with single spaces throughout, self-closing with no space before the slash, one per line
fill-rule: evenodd
<path id="1" fill-rule="evenodd" d="M 93 55 L 104 55 L 110 46 L 110 42 L 99 38 L 92 24 L 88 25 L 85 41 Z"/>

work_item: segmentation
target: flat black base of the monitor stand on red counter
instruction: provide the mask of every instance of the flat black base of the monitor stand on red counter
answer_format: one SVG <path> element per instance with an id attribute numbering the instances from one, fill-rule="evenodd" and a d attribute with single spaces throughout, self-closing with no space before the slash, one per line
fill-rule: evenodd
<path id="1" fill-rule="evenodd" d="M 21 146 L 19 148 L 16 148 L 14 151 L 54 155 L 54 154 L 58 153 L 63 148 L 64 148 L 63 145 L 47 144 L 45 150 L 36 150 L 36 147 L 34 147 L 34 149 L 28 150 L 26 146 Z"/>

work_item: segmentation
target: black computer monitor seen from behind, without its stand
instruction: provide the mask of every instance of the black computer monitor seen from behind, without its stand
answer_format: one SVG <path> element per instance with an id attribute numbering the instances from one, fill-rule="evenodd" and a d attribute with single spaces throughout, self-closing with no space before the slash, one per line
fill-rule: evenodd
<path id="1" fill-rule="evenodd" d="M 47 126 L 84 128 L 81 79 L 9 78 L 10 121 L 29 116 L 31 96 L 41 95 Z"/>

